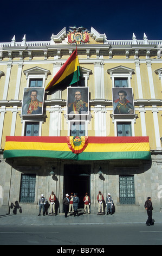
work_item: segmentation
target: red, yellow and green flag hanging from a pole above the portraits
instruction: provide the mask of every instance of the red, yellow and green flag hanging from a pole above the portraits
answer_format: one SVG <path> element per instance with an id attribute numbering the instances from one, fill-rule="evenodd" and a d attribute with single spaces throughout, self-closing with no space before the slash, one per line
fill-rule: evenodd
<path id="1" fill-rule="evenodd" d="M 70 55 L 54 78 L 47 84 L 46 91 L 56 86 L 70 86 L 80 79 L 80 65 L 77 56 L 77 49 Z"/>

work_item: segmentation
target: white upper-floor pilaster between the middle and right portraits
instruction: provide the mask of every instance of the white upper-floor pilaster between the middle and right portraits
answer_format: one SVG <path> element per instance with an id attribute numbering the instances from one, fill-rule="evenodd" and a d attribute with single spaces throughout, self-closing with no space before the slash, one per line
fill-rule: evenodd
<path id="1" fill-rule="evenodd" d="M 105 99 L 103 63 L 94 63 L 95 99 Z"/>

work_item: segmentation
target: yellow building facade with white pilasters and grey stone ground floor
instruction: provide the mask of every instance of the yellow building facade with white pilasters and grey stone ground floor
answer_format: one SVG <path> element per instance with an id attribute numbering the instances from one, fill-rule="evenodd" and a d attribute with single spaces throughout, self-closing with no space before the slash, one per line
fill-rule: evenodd
<path id="1" fill-rule="evenodd" d="M 44 91 L 76 45 L 79 82 Z M 81 209 L 88 192 L 90 211 L 98 213 L 99 191 L 104 204 L 111 193 L 115 211 L 143 211 L 148 196 L 160 211 L 161 52 L 161 41 L 145 33 L 141 40 L 134 34 L 131 40 L 109 40 L 94 28 L 63 28 L 49 41 L 28 42 L 24 35 L 21 42 L 15 36 L 1 42 L 0 212 L 8 214 L 16 205 L 17 211 L 36 214 L 41 194 L 49 200 L 51 191 L 57 214 L 63 213 L 62 200 L 71 192 L 78 193 Z M 88 111 L 83 114 L 68 114 L 74 88 L 85 93 Z M 41 112 L 27 114 L 23 107 L 34 89 Z M 88 139 L 82 153 L 67 148 L 66 139 L 72 137 Z"/>

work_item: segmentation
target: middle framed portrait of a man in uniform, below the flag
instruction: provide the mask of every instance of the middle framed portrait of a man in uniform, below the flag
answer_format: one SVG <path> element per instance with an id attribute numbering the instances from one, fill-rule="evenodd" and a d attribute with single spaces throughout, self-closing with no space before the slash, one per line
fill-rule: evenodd
<path id="1" fill-rule="evenodd" d="M 89 113 L 89 88 L 68 87 L 67 88 L 67 114 L 88 115 Z"/>

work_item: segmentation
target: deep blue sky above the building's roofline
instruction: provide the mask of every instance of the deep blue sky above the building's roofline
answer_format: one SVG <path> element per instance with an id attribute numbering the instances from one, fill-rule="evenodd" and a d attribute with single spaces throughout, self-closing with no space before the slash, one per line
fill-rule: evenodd
<path id="1" fill-rule="evenodd" d="M 159 2 L 160 3 L 160 2 Z M 93 27 L 107 39 L 162 40 L 158 2 L 109 0 L 6 0 L 1 2 L 0 42 L 48 41 L 64 27 Z"/>

